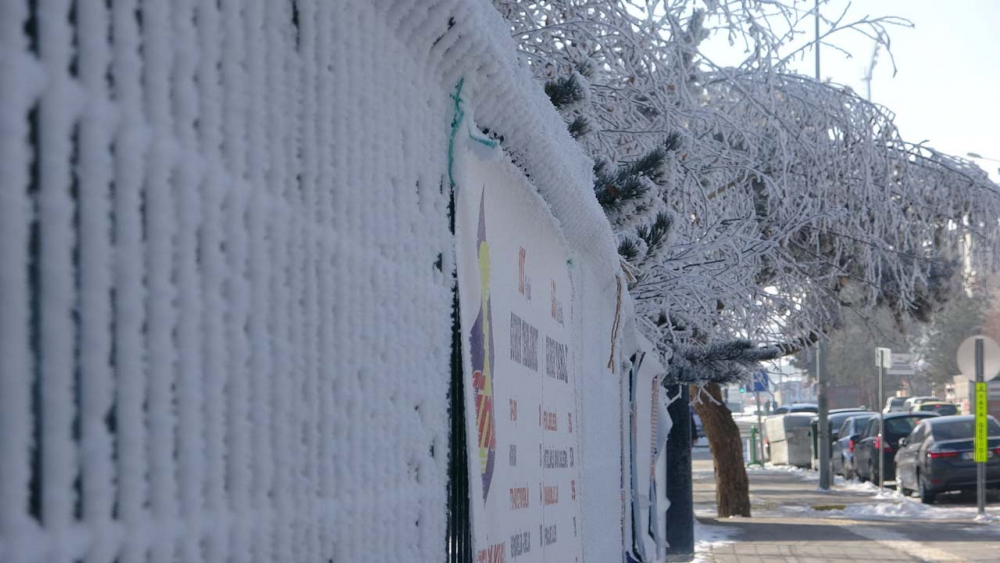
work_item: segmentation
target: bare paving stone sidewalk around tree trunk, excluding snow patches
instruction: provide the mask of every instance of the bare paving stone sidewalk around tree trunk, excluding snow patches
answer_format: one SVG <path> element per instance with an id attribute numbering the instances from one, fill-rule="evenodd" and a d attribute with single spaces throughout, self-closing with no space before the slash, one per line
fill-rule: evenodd
<path id="1" fill-rule="evenodd" d="M 696 448 L 694 500 L 699 522 L 731 538 L 701 561 L 1000 561 L 1000 524 L 962 520 L 850 520 L 813 507 L 872 504 L 872 494 L 817 490 L 799 475 L 750 472 L 753 518 L 718 520 L 711 454 Z"/>

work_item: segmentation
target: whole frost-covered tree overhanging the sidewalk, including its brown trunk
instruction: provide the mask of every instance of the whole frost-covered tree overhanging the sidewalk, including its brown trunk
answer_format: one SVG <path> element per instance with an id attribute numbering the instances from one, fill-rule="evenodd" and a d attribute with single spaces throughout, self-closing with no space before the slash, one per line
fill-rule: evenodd
<path id="1" fill-rule="evenodd" d="M 643 328 L 696 405 L 719 460 L 719 514 L 749 515 L 718 384 L 878 307 L 926 319 L 966 236 L 992 267 L 1000 188 L 903 140 L 892 113 L 791 73 L 812 4 L 794 0 L 495 0 L 523 60 L 594 158 Z M 825 20 L 886 48 L 898 18 Z M 745 59 L 699 50 L 724 34 Z M 733 442 L 735 440 L 735 442 Z M 733 442 L 733 443 L 730 443 Z M 739 457 L 740 459 L 736 459 Z"/>

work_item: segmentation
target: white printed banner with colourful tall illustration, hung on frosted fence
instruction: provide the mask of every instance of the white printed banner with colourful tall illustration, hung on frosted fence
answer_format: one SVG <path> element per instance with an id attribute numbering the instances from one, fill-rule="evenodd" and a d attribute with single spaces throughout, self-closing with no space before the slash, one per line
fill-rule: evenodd
<path id="1" fill-rule="evenodd" d="M 542 199 L 495 156 L 456 155 L 473 555 L 575 563 L 579 376 L 568 256 Z"/>

